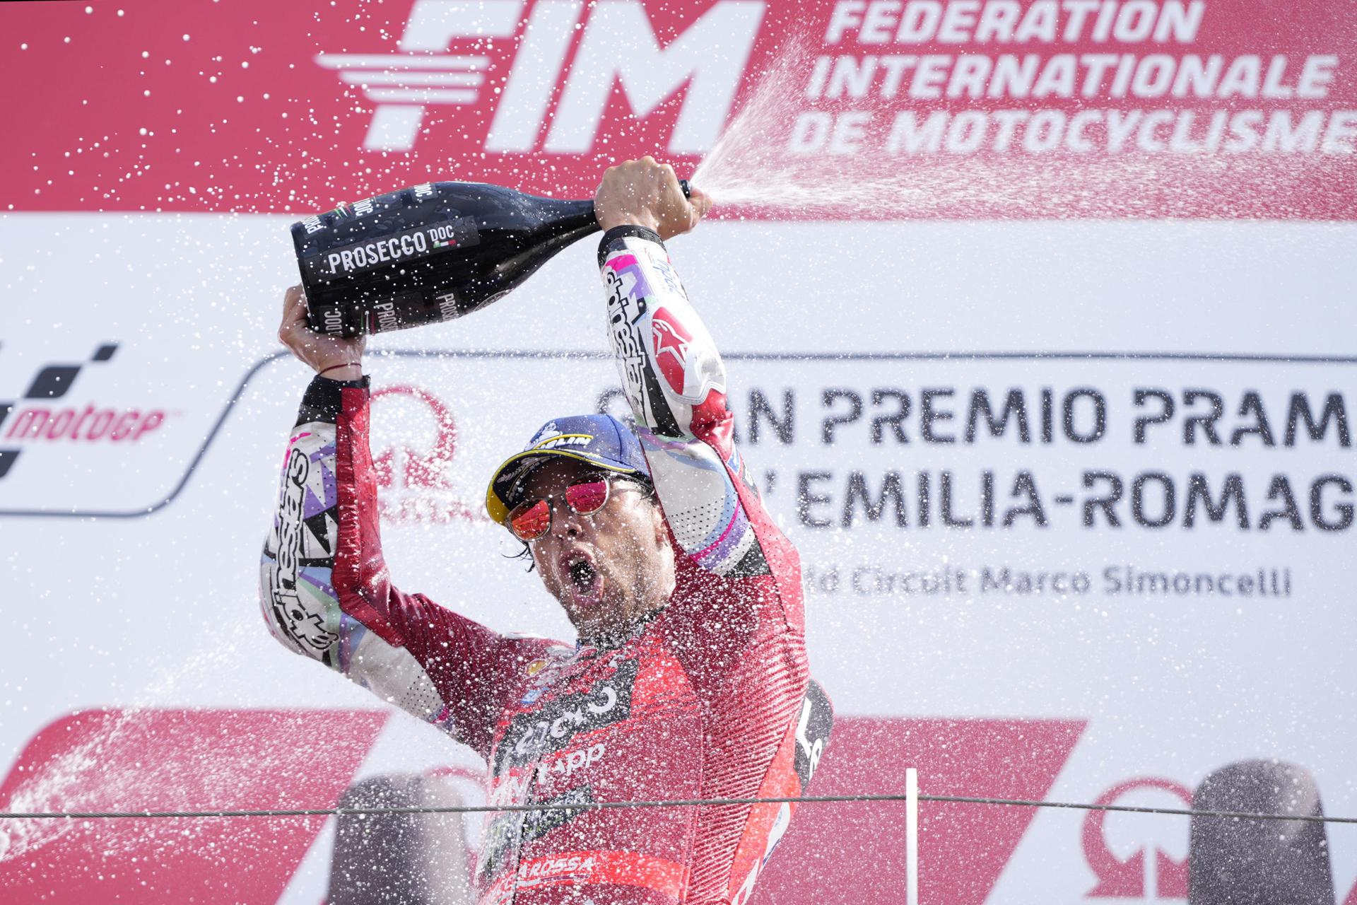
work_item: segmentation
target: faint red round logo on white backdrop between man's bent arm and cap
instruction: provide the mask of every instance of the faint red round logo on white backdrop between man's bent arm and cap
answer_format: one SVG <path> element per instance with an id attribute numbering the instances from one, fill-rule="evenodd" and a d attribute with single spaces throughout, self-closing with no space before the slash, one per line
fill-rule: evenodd
<path id="1" fill-rule="evenodd" d="M 404 402 L 404 404 L 400 404 Z M 387 436 L 408 437 L 408 425 L 433 422 L 418 441 L 385 446 L 372 457 L 377 474 L 377 512 L 387 522 L 448 524 L 490 521 L 453 491 L 451 471 L 457 453 L 457 425 L 448 406 L 419 387 L 387 387 L 372 393 L 373 418 L 395 418 L 402 426 Z M 385 411 L 385 415 L 381 412 Z M 432 434 L 432 437 L 429 436 Z"/>

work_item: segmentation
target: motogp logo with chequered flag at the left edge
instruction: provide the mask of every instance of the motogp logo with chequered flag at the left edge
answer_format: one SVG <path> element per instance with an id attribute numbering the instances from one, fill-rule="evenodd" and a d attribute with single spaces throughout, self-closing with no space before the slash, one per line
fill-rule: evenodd
<path id="1" fill-rule="evenodd" d="M 96 403 L 65 406 L 64 399 L 88 365 L 113 360 L 118 343 L 103 343 L 88 362 L 79 365 L 45 365 L 34 376 L 18 402 L 0 402 L 0 479 L 8 476 L 19 456 L 30 445 L 123 444 L 138 442 L 159 430 L 166 412 L 161 408 L 113 408 Z"/>

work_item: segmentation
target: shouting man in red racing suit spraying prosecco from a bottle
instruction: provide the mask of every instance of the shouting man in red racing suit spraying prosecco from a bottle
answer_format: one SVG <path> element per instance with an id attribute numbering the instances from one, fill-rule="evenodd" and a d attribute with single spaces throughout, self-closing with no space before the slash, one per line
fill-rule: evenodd
<path id="1" fill-rule="evenodd" d="M 624 172 L 609 178 L 630 179 L 645 204 L 681 204 L 688 227 L 710 204 L 695 198 L 687 210 L 681 194 L 674 199 L 673 171 L 649 157 L 616 170 Z M 600 194 L 607 227 L 604 201 Z M 289 292 L 284 341 L 318 370 L 343 365 L 324 369 L 339 380 L 318 374 L 301 403 L 263 552 L 265 619 L 293 651 L 474 748 L 489 764 L 495 805 L 795 796 L 828 741 L 829 703 L 806 665 L 797 551 L 746 478 L 723 365 L 661 242 L 660 232 L 684 228 L 647 223 L 613 227 L 600 246 L 609 339 L 636 419 L 635 437 L 623 440 L 639 440 L 643 460 L 631 468 L 619 455 L 598 461 L 609 480 L 630 472 L 636 487 L 653 488 L 672 566 L 666 560 L 664 593 L 646 612 L 590 623 L 570 602 L 585 598 L 551 583 L 578 578 L 579 558 L 552 571 L 543 541 L 533 541 L 548 590 L 579 628 L 575 644 L 501 635 L 394 586 L 377 531 L 361 343 L 337 349 L 326 343 L 342 341 L 303 336 L 300 292 Z M 607 417 L 581 418 L 597 426 Z M 491 516 L 502 524 L 510 516 L 514 499 L 497 487 L 508 486 L 512 463 L 593 467 L 584 453 L 536 457 L 570 444 L 588 453 L 594 440 L 579 436 L 548 422 L 497 474 Z M 574 544 L 613 505 L 653 505 L 616 487 L 612 495 L 592 517 L 556 502 L 551 531 L 574 532 L 562 541 Z M 605 545 L 589 550 L 601 559 Z M 480 902 L 744 902 L 794 809 L 491 814 L 476 866 Z"/>

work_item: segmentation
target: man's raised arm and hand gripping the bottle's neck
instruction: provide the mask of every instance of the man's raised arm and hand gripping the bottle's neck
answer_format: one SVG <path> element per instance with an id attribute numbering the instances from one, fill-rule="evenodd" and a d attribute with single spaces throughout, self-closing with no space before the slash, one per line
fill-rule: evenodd
<path id="1" fill-rule="evenodd" d="M 596 198 L 608 338 L 683 552 L 718 575 L 783 573 L 799 582 L 795 554 L 734 446 L 725 365 L 662 242 L 691 229 L 710 204 L 696 189 L 685 201 L 673 168 L 650 157 L 608 171 Z"/>

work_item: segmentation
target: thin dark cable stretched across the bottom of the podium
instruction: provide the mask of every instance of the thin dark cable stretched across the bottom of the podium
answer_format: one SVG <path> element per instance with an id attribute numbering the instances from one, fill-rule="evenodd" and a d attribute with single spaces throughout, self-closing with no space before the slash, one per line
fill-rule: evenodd
<path id="1" fill-rule="evenodd" d="M 113 818 L 186 818 L 186 817 L 342 817 L 347 814 L 483 814 L 489 811 L 586 811 L 612 807 L 684 807 L 712 805 L 779 805 L 825 802 L 902 802 L 905 795 L 803 795 L 798 798 L 676 798 L 653 802 L 582 802 L 540 805 L 448 805 L 426 807 L 299 807 L 278 810 L 204 810 L 204 811 L 0 811 L 0 820 L 113 820 Z M 1012 805 L 1018 807 L 1064 807 L 1086 811 L 1122 811 L 1129 814 L 1172 814 L 1178 817 L 1219 817 L 1227 820 L 1296 820 L 1310 824 L 1357 824 L 1357 817 L 1323 814 L 1261 814 L 1254 811 L 1205 811 L 1183 807 L 1136 807 L 1132 805 L 1080 805 L 1075 802 L 1035 802 L 1014 798 L 976 798 L 969 795 L 920 795 L 921 802 L 951 805 Z"/>

